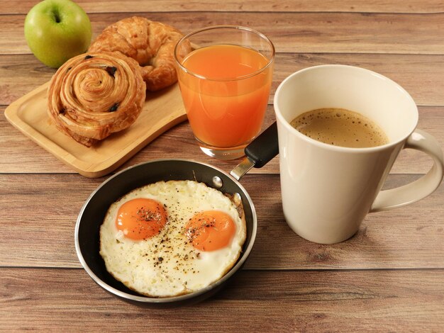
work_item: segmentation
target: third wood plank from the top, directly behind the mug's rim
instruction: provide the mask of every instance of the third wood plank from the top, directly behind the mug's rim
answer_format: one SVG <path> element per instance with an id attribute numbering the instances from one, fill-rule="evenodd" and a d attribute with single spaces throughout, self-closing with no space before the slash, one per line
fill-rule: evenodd
<path id="1" fill-rule="evenodd" d="M 444 45 L 444 44 L 443 44 Z M 444 106 L 444 55 L 277 54 L 270 103 L 277 86 L 293 72 L 320 64 L 364 67 L 393 79 L 420 106 Z M 55 69 L 33 55 L 0 55 L 0 105 L 9 105 L 49 81 Z"/>

